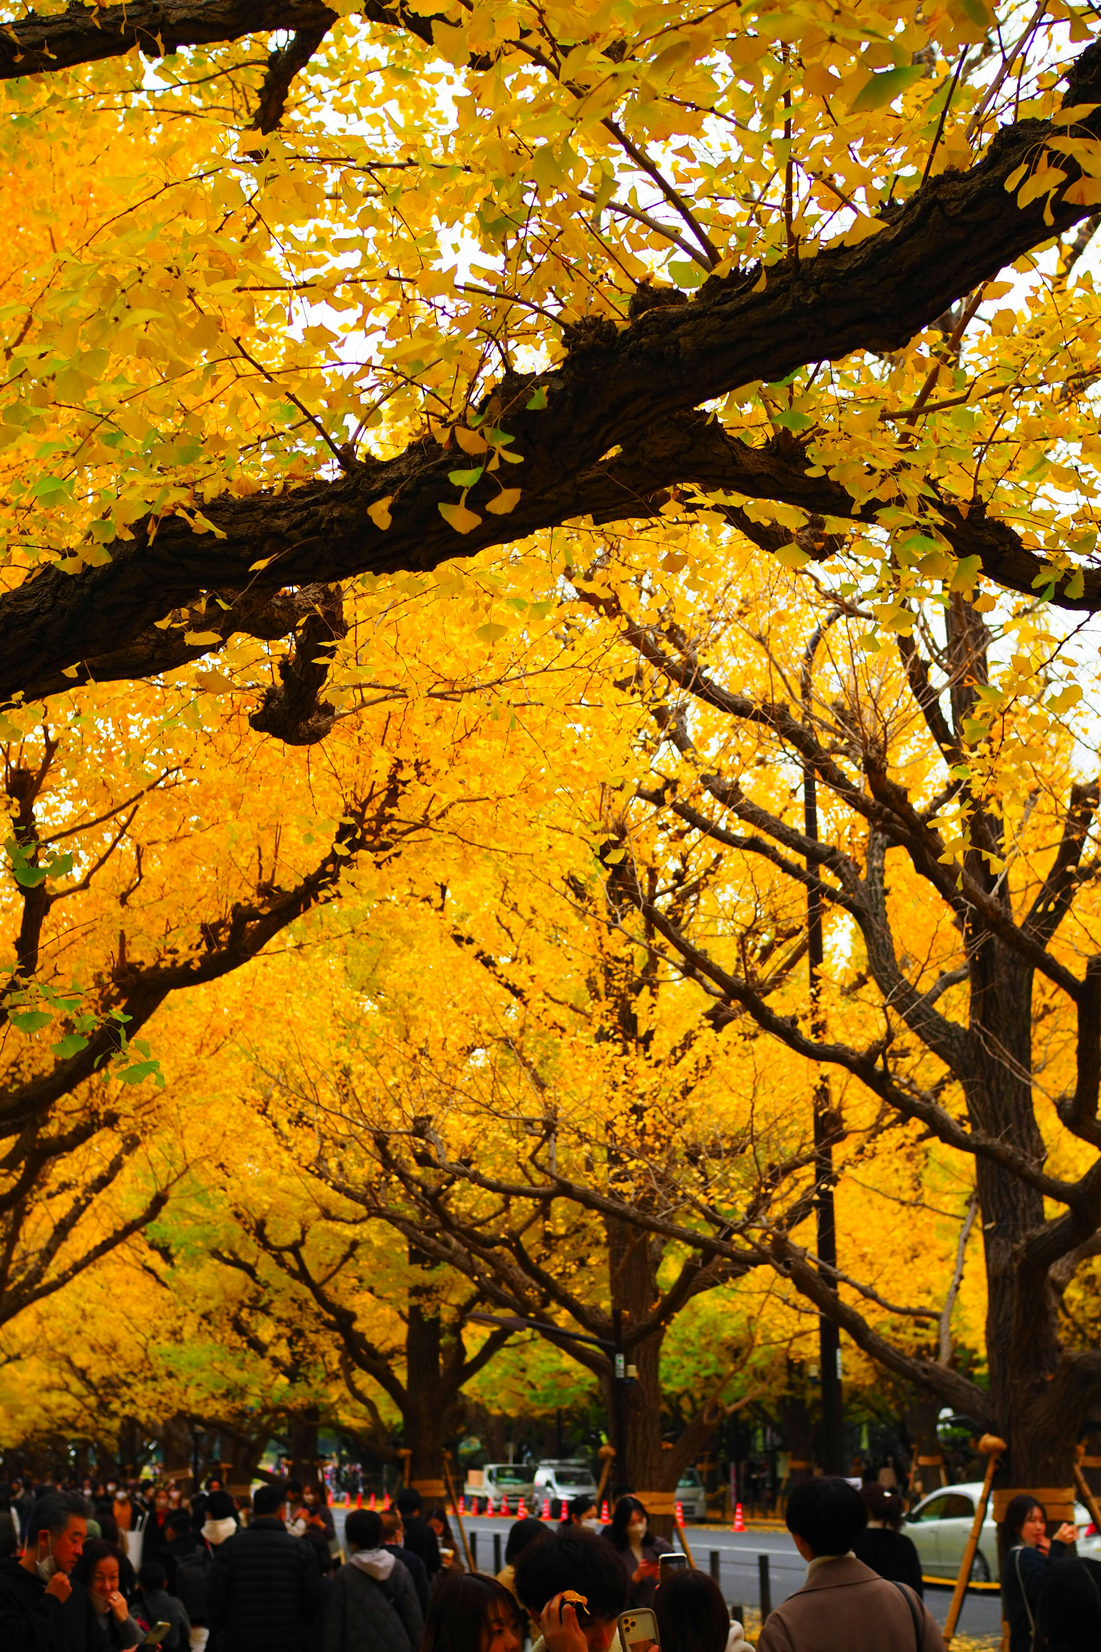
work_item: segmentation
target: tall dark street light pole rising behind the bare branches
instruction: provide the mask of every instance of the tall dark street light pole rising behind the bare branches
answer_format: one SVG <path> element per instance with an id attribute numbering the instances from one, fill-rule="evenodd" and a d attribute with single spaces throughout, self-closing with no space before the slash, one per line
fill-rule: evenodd
<path id="1" fill-rule="evenodd" d="M 810 727 L 810 689 L 814 672 L 814 656 L 829 626 L 842 618 L 842 610 L 835 608 L 810 636 L 802 661 L 802 720 Z M 802 818 L 806 836 L 819 841 L 819 783 L 810 758 L 802 760 Z M 812 877 L 822 876 L 822 867 L 807 857 L 807 871 Z M 807 889 L 807 983 L 810 993 L 810 1032 L 815 1039 L 825 1036 L 825 1013 L 822 1009 L 822 895 L 817 889 Z M 825 1069 L 819 1069 L 814 1085 L 814 1206 L 817 1214 L 819 1262 L 827 1269 L 837 1267 L 837 1222 L 834 1216 L 834 1137 L 835 1120 L 830 1097 L 830 1080 Z M 835 1279 L 830 1277 L 830 1284 Z M 845 1416 L 840 1374 L 840 1330 L 835 1320 L 819 1315 L 819 1371 L 822 1373 L 822 1469 L 825 1474 L 845 1472 Z"/>

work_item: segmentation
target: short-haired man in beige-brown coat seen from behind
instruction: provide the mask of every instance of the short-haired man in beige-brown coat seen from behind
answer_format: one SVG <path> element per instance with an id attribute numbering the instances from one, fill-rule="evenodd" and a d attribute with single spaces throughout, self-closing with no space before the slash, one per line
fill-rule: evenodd
<path id="1" fill-rule="evenodd" d="M 794 1488 L 787 1530 L 807 1561 L 807 1581 L 771 1614 L 758 1652 L 944 1652 L 924 1601 L 853 1555 L 867 1520 L 848 1480 L 822 1475 Z"/>

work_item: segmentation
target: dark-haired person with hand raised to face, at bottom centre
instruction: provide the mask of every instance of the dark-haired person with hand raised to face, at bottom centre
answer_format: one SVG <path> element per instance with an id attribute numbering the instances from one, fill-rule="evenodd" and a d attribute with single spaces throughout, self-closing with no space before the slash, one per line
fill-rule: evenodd
<path id="1" fill-rule="evenodd" d="M 573 1652 L 581 1632 L 588 1652 L 607 1652 L 616 1619 L 627 1606 L 627 1578 L 611 1543 L 594 1531 L 566 1526 L 523 1550 L 513 1576 L 520 1606 L 543 1631 L 546 1652 Z M 586 1604 L 563 1602 L 566 1589 Z M 536 1652 L 538 1642 L 532 1647 Z"/>

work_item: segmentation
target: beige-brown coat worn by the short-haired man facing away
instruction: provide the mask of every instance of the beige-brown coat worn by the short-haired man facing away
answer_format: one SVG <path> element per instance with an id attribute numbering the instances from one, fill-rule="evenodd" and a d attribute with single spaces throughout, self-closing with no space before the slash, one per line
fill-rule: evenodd
<path id="1" fill-rule="evenodd" d="M 921 1652 L 944 1652 L 934 1619 L 916 1596 L 911 1599 L 921 1621 Z M 817 1563 L 802 1589 L 776 1607 L 758 1652 L 918 1652 L 918 1637 L 901 1589 L 842 1556 Z"/>

